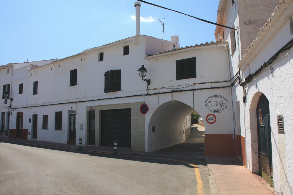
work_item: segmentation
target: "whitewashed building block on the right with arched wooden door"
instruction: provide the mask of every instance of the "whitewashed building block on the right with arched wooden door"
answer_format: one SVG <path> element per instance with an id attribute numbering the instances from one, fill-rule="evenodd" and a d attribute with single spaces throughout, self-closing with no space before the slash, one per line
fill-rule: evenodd
<path id="1" fill-rule="evenodd" d="M 271 9 L 269 9 L 271 8 Z M 220 0 L 216 37 L 229 42 L 236 155 L 251 172 L 274 186 L 275 194 L 292 194 L 292 55 L 293 2 Z M 268 19 L 269 18 L 269 19 Z M 236 36 L 235 36 L 236 35 Z M 236 37 L 236 38 L 235 38 Z M 248 46 L 248 48 L 247 48 Z M 239 137 L 239 139 L 237 139 Z"/>

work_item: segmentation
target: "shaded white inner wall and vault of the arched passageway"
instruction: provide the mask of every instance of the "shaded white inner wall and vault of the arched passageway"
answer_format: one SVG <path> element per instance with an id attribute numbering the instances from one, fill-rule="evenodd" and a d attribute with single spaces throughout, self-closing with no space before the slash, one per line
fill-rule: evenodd
<path id="1" fill-rule="evenodd" d="M 192 128 L 190 115 L 193 111 L 193 108 L 180 101 L 160 105 L 149 121 L 148 152 L 184 142 Z"/>

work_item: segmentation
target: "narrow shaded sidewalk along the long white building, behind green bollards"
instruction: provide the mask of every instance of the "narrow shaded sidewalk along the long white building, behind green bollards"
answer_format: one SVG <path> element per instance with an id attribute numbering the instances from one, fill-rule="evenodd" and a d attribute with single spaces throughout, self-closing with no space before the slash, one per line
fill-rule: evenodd
<path id="1" fill-rule="evenodd" d="M 7 137 L 0 137 L 0 141 L 7 141 L 7 142 L 18 142 L 24 144 L 34 144 L 35 146 L 44 146 L 44 147 L 52 147 L 52 148 L 60 148 L 60 149 L 73 149 L 78 150 L 78 145 L 71 145 L 71 144 L 59 144 L 54 142 L 47 142 L 47 141 L 38 141 L 38 140 L 26 140 L 26 139 L 13 139 Z M 113 147 L 96 147 L 96 146 L 82 146 L 83 151 L 94 151 L 94 152 L 105 152 L 105 153 L 113 153 Z M 138 152 L 132 151 L 129 149 L 119 149 L 117 153 L 119 154 L 136 154 L 136 155 L 143 155 L 145 152 Z"/>

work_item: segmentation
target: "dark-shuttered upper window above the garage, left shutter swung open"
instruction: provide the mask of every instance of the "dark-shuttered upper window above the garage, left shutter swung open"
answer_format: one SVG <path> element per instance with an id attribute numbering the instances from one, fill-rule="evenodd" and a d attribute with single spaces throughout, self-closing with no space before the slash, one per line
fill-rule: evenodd
<path id="1" fill-rule="evenodd" d="M 105 72 L 105 93 L 121 91 L 121 70 Z"/>

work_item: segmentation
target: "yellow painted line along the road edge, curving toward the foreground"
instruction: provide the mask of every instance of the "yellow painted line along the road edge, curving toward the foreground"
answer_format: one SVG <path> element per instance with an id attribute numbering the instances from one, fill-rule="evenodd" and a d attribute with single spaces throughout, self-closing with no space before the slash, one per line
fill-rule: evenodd
<path id="1" fill-rule="evenodd" d="M 3 140 L 3 141 L 6 141 L 6 140 Z M 31 143 L 18 142 L 18 141 L 8 141 L 8 142 L 21 143 L 21 144 L 30 144 L 30 145 L 35 145 L 35 146 L 45 146 L 45 145 L 31 144 Z M 78 149 L 60 148 L 60 147 L 55 147 L 55 146 L 45 146 L 45 147 L 79 151 Z M 108 153 L 108 152 L 96 152 L 96 151 L 90 151 L 90 150 L 83 150 L 83 151 L 94 152 L 94 153 L 102 153 L 102 154 L 112 154 L 113 155 L 113 153 Z M 160 159 L 160 160 L 168 160 L 168 161 L 177 161 L 177 162 L 188 164 L 188 165 L 190 165 L 190 166 L 192 166 L 194 168 L 196 184 L 197 184 L 197 194 L 198 195 L 203 195 L 204 194 L 203 193 L 202 180 L 201 180 L 201 177 L 200 177 L 200 170 L 198 169 L 197 165 L 193 165 L 193 164 L 191 164 L 189 162 L 186 162 L 186 161 L 179 161 L 179 160 L 174 160 L 174 159 L 169 159 L 169 158 L 155 158 L 155 157 L 148 157 L 148 156 L 136 156 L 136 155 L 126 155 L 126 154 L 117 154 L 117 155 L 139 157 L 139 158 L 152 158 L 152 159 Z"/>

